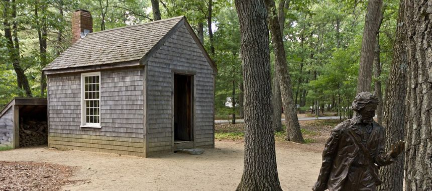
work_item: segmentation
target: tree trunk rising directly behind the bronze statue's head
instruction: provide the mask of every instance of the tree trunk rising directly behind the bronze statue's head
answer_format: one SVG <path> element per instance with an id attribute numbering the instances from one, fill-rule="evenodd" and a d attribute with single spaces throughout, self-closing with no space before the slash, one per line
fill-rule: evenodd
<path id="1" fill-rule="evenodd" d="M 375 41 L 378 33 L 378 22 L 381 17 L 381 7 L 382 0 L 369 0 L 363 31 L 357 93 L 371 90 Z"/>

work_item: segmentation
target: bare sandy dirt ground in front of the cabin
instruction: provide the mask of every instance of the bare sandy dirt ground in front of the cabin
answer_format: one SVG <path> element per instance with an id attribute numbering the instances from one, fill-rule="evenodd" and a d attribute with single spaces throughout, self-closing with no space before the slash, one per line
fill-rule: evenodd
<path id="1" fill-rule="evenodd" d="M 61 190 L 235 190 L 243 170 L 243 142 L 216 141 L 202 155 L 169 153 L 151 158 L 87 151 L 23 148 L 0 152 L 0 161 L 34 161 L 76 166 Z M 277 143 L 284 190 L 311 190 L 322 143 Z"/>

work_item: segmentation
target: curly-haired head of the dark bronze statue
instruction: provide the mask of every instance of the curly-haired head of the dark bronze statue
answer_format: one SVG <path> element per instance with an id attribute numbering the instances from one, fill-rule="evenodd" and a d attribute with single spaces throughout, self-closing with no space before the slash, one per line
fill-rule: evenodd
<path id="1" fill-rule="evenodd" d="M 351 108 L 357 113 L 357 116 L 359 116 L 363 122 L 371 123 L 375 116 L 375 110 L 377 109 L 378 103 L 379 100 L 375 96 L 375 93 L 372 94 L 368 91 L 364 91 L 357 94 Z"/>

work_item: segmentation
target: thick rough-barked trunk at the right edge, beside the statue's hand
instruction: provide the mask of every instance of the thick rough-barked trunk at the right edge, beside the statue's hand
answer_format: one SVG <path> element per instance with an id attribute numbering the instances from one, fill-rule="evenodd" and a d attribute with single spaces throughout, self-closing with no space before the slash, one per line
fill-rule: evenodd
<path id="1" fill-rule="evenodd" d="M 432 1 L 405 1 L 407 72 L 405 190 L 432 188 Z M 405 65 L 403 65 L 405 66 Z"/>

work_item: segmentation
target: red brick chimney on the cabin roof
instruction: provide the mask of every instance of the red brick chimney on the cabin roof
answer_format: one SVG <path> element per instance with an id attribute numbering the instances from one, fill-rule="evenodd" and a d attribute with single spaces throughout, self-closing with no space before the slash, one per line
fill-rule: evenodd
<path id="1" fill-rule="evenodd" d="M 87 10 L 79 9 L 72 15 L 72 44 L 93 32 L 93 18 Z"/>

